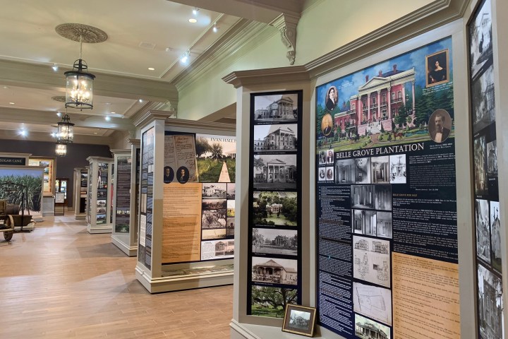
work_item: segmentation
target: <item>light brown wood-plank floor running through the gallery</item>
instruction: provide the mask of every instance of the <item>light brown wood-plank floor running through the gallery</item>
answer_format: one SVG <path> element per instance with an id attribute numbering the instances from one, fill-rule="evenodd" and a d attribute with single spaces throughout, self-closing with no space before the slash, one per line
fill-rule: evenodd
<path id="1" fill-rule="evenodd" d="M 71 213 L 1 237 L 0 338 L 229 338 L 232 286 L 150 295 L 134 269 Z"/>

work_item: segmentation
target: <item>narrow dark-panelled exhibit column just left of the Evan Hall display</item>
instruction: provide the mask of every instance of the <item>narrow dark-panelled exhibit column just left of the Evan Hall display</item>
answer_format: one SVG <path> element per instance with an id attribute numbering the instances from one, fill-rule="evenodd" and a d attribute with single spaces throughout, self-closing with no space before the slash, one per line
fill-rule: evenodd
<path id="1" fill-rule="evenodd" d="M 137 246 L 131 248 L 131 150 L 111 150 L 114 155 L 113 222 L 111 242 L 128 256 L 135 256 Z"/>

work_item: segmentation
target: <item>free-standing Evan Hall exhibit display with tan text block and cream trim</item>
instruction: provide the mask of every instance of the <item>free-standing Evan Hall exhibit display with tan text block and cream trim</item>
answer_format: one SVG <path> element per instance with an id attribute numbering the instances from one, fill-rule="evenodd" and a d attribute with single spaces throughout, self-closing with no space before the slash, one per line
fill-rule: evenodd
<path id="1" fill-rule="evenodd" d="M 149 112 L 139 125 L 136 278 L 151 293 L 231 284 L 234 126 L 166 118 Z"/>

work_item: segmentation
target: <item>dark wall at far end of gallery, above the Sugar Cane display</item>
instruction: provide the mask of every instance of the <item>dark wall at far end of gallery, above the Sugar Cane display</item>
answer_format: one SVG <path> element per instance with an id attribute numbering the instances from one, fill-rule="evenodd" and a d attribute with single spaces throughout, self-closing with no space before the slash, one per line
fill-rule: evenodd
<path id="1" fill-rule="evenodd" d="M 42 157 L 54 157 L 55 143 L 47 141 L 0 140 L 0 153 L 31 153 Z M 56 177 L 68 178 L 67 206 L 71 207 L 74 194 L 74 169 L 90 165 L 87 157 L 111 157 L 108 145 L 88 145 L 71 143 L 67 145 L 67 155 L 56 157 Z"/>

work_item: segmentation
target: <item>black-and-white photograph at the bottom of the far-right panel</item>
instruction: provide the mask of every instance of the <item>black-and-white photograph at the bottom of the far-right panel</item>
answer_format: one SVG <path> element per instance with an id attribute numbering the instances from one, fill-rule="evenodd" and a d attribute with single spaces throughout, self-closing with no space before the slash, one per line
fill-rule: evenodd
<path id="1" fill-rule="evenodd" d="M 480 338 L 502 339 L 502 280 L 478 264 L 478 325 Z"/>

